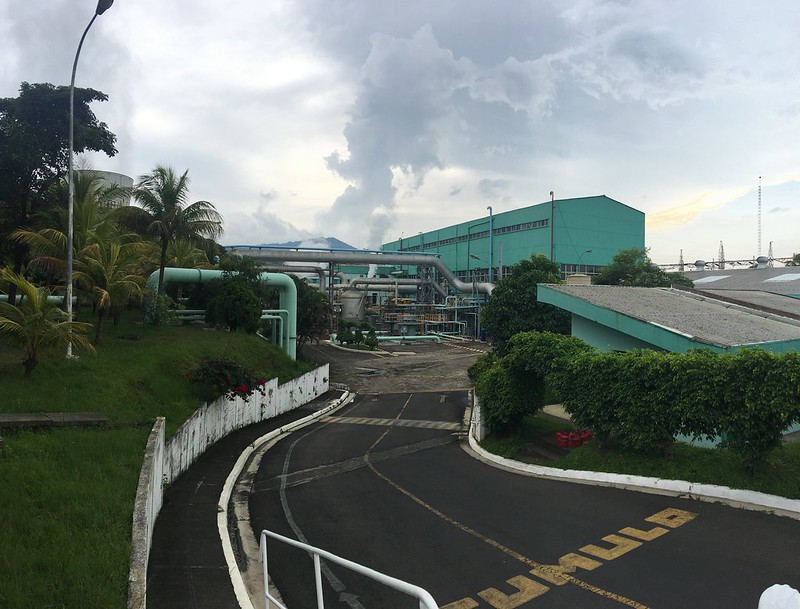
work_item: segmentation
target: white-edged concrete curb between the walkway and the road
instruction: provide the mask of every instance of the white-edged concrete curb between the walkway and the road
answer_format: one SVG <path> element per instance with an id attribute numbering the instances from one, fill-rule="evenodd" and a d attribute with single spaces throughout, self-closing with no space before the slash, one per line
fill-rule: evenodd
<path id="1" fill-rule="evenodd" d="M 219 530 L 219 537 L 220 541 L 222 542 L 222 553 L 225 555 L 225 562 L 228 564 L 228 573 L 230 575 L 231 584 L 233 585 L 233 591 L 236 594 L 236 599 L 239 601 L 239 607 L 241 609 L 255 609 L 253 603 L 250 599 L 250 595 L 247 592 L 247 587 L 244 584 L 244 579 L 242 578 L 242 574 L 239 571 L 239 566 L 236 564 L 236 556 L 233 552 L 233 544 L 231 543 L 230 534 L 228 530 L 228 506 L 230 504 L 231 495 L 233 494 L 233 488 L 236 485 L 236 480 L 242 473 L 244 466 L 247 464 L 247 461 L 250 459 L 250 456 L 258 450 L 261 446 L 270 442 L 272 440 L 276 440 L 280 436 L 289 433 L 291 431 L 295 431 L 311 423 L 314 423 L 317 419 L 324 417 L 339 408 L 342 408 L 350 403 L 352 400 L 352 395 L 349 391 L 346 391 L 342 396 L 337 399 L 335 402 L 326 406 L 322 410 L 318 410 L 317 412 L 310 414 L 307 417 L 302 419 L 298 419 L 297 421 L 293 421 L 288 425 L 284 425 L 278 429 L 275 429 L 260 438 L 258 438 L 255 442 L 250 444 L 241 455 L 239 455 L 239 459 L 237 459 L 236 464 L 233 466 L 231 473 L 228 474 L 227 479 L 225 480 L 225 484 L 222 487 L 222 494 L 219 498 L 218 504 L 218 512 L 217 512 L 217 529 Z"/>

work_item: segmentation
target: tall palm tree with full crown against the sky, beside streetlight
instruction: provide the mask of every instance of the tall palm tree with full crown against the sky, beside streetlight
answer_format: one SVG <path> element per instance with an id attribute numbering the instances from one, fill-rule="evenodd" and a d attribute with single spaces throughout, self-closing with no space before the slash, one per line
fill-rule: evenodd
<path id="1" fill-rule="evenodd" d="M 156 165 L 139 178 L 133 196 L 141 207 L 117 210 L 123 221 L 142 234 L 155 237 L 161 246 L 158 272 L 158 293 L 164 290 L 164 268 L 167 251 L 176 239 L 200 243 L 203 238 L 222 235 L 222 216 L 212 203 L 195 201 L 188 204 L 189 170 L 180 176 L 171 167 Z"/>

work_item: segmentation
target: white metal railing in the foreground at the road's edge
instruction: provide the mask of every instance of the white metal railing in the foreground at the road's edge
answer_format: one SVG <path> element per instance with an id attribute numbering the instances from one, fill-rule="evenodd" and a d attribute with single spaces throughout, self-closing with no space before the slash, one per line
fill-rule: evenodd
<path id="1" fill-rule="evenodd" d="M 272 539 L 277 539 L 278 541 L 282 541 L 290 546 L 294 546 L 296 548 L 300 548 L 305 550 L 309 554 L 314 561 L 314 581 L 316 582 L 316 590 L 317 590 L 317 609 L 324 609 L 325 603 L 322 598 L 322 563 L 320 558 L 324 558 L 327 561 L 332 563 L 336 563 L 341 565 L 351 571 L 355 571 L 356 573 L 360 573 L 361 575 L 365 575 L 378 583 L 381 583 L 385 586 L 389 586 L 390 588 L 394 588 L 395 590 L 399 590 L 409 596 L 413 596 L 417 600 L 419 600 L 420 609 L 439 609 L 439 605 L 436 604 L 436 601 L 433 600 L 433 597 L 428 593 L 427 590 L 424 588 L 420 588 L 419 586 L 415 586 L 414 584 L 409 584 L 408 582 L 404 582 L 403 580 L 391 577 L 389 575 L 384 575 L 383 573 L 379 573 L 369 567 L 364 567 L 363 565 L 359 565 L 351 560 L 347 560 L 346 558 L 341 558 L 336 556 L 335 554 L 331 554 L 330 552 L 326 552 L 320 548 L 315 548 L 307 543 L 303 543 L 294 539 L 290 539 L 288 537 L 284 537 L 283 535 L 278 535 L 277 533 L 273 533 L 272 531 L 267 531 L 266 529 L 261 531 L 261 540 L 259 544 L 259 557 L 261 562 L 264 564 L 264 598 L 266 601 L 266 609 L 270 609 L 270 603 L 274 603 L 275 607 L 279 609 L 286 609 L 284 605 L 282 605 L 275 597 L 273 597 L 269 593 L 269 567 L 267 564 L 267 537 L 271 537 Z"/>

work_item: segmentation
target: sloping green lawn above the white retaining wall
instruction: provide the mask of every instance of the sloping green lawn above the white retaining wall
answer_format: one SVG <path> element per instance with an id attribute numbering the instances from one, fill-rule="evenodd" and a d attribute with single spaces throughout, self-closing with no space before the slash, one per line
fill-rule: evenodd
<path id="1" fill-rule="evenodd" d="M 205 356 L 281 382 L 314 367 L 252 335 L 143 326 L 138 311 L 118 327 L 108 322 L 96 355 L 48 354 L 29 379 L 21 353 L 0 343 L 0 412 L 96 411 L 111 420 L 108 428 L 2 432 L 0 607 L 126 606 L 147 435 L 157 416 L 169 436 L 197 408 L 201 390 L 183 372 Z"/>

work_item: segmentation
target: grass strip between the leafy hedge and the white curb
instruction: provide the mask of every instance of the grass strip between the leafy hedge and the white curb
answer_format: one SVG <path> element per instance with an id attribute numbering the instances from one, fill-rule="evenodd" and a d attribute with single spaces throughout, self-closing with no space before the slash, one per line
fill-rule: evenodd
<path id="1" fill-rule="evenodd" d="M 542 416 L 529 416 L 519 433 L 506 437 L 490 435 L 481 446 L 489 452 L 510 459 L 533 462 L 533 459 L 522 454 L 521 449 L 525 444 L 535 443 L 543 436 L 551 437 L 556 431 L 570 428 L 568 421 L 562 423 Z M 729 451 L 698 448 L 680 442 L 674 444 L 670 459 L 614 448 L 601 452 L 594 443 L 589 442 L 580 448 L 571 449 L 566 456 L 546 465 L 562 469 L 718 484 L 800 499 L 800 443 L 784 444 L 770 455 L 769 462 L 763 468 L 755 472 L 744 469 L 739 458 Z"/>

